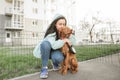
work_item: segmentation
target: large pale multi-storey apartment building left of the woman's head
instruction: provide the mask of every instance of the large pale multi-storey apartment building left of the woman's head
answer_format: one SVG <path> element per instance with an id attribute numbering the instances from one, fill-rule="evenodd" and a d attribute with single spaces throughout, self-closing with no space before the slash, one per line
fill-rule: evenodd
<path id="1" fill-rule="evenodd" d="M 33 45 L 48 26 L 54 0 L 1 0 L 0 45 Z M 52 11 L 51 11 L 52 10 Z M 51 13 L 52 14 L 52 13 Z"/>

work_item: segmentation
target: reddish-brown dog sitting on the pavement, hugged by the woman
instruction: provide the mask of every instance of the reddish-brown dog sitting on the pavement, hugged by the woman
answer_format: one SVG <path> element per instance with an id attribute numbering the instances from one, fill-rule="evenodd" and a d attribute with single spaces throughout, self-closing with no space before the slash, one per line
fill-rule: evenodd
<path id="1" fill-rule="evenodd" d="M 59 33 L 61 39 L 69 38 L 72 34 L 72 30 L 69 27 L 63 27 Z M 61 48 L 62 53 L 65 56 L 64 61 L 61 64 L 60 73 L 63 75 L 67 74 L 68 69 L 71 70 L 72 73 L 76 73 L 78 71 L 78 62 L 76 59 L 76 55 L 70 52 L 69 44 L 65 43 Z"/>

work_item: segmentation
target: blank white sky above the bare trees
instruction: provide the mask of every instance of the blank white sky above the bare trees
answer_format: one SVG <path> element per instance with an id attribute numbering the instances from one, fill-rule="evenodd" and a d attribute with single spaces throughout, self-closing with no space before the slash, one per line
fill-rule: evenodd
<path id="1" fill-rule="evenodd" d="M 75 0 L 77 16 L 99 15 L 104 18 L 110 18 L 120 21 L 120 1 L 119 0 Z"/>

